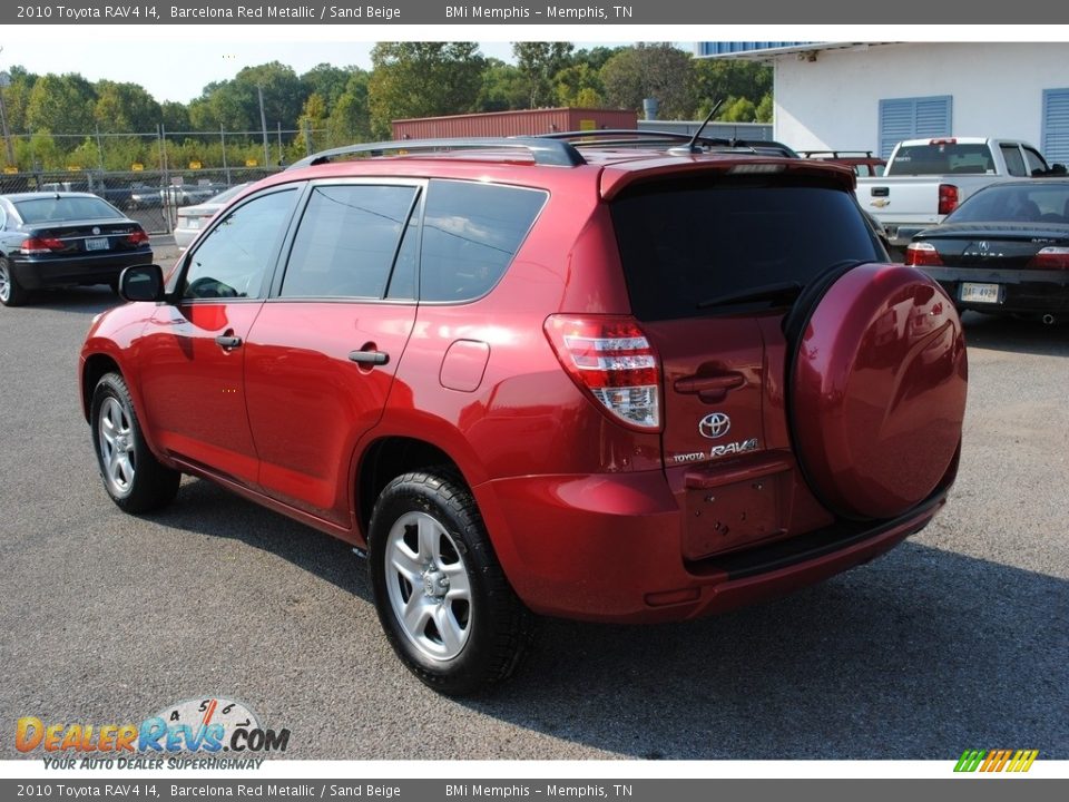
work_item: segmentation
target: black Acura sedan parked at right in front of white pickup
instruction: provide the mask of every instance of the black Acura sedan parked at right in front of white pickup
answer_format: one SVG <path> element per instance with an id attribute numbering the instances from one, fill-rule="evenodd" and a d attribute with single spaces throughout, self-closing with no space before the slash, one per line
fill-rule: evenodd
<path id="1" fill-rule="evenodd" d="M 1069 316 L 1069 178 L 980 189 L 916 234 L 905 263 L 942 284 L 959 309 L 1045 323 Z"/>

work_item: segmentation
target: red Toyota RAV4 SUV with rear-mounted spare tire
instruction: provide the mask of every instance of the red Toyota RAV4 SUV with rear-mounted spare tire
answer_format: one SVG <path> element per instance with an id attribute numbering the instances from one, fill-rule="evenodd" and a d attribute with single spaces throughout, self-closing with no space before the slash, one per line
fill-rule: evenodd
<path id="1" fill-rule="evenodd" d="M 450 694 L 534 614 L 693 618 L 886 551 L 957 472 L 954 305 L 847 169 L 715 145 L 380 144 L 251 187 L 88 334 L 108 492 L 192 473 L 366 548 Z"/>

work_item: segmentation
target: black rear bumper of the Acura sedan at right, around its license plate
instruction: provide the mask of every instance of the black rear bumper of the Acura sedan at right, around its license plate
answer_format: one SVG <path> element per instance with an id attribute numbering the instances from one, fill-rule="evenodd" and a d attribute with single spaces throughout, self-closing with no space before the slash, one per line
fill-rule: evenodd
<path id="1" fill-rule="evenodd" d="M 979 312 L 1069 312 L 1069 271 L 1021 270 L 998 271 L 970 267 L 921 267 L 942 285 L 960 309 Z M 963 282 L 997 284 L 997 303 L 961 300 Z"/>

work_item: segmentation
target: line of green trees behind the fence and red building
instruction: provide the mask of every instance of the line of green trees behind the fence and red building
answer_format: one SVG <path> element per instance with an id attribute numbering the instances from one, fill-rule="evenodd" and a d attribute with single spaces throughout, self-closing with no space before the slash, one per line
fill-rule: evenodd
<path id="1" fill-rule="evenodd" d="M 772 118 L 772 71 L 755 62 L 696 59 L 668 42 L 590 49 L 516 42 L 512 53 L 516 62 L 508 63 L 483 56 L 477 42 L 379 42 L 370 70 L 321 63 L 297 75 L 272 61 L 208 84 L 188 104 L 158 102 L 134 82 L 16 66 L 2 89 L 16 164 L 7 149 L 0 160 L 20 170 L 255 160 L 263 157 L 261 97 L 273 146 L 285 129 L 285 141 L 277 137 L 284 162 L 311 149 L 389 139 L 391 120 L 413 117 L 555 106 L 641 115 L 644 98 L 656 98 L 661 119 L 698 119 L 722 99 L 717 119 Z M 161 131 L 167 136 L 157 141 Z"/>

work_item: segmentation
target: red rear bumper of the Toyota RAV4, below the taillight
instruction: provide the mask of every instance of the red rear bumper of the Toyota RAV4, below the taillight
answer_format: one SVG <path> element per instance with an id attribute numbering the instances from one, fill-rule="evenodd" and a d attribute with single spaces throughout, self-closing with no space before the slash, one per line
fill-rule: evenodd
<path id="1" fill-rule="evenodd" d="M 617 623 L 697 618 L 782 596 L 890 550 L 945 502 L 890 521 L 838 524 L 694 563 L 659 472 L 523 477 L 474 489 L 517 594 L 543 615 Z"/>

